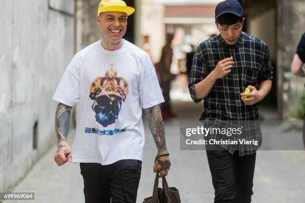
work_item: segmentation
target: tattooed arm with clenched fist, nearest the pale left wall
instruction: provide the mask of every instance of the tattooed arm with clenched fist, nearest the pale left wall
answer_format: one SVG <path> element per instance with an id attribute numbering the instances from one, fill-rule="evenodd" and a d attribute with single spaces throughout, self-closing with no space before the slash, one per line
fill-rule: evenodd
<path id="1" fill-rule="evenodd" d="M 71 151 L 71 147 L 67 143 L 67 135 L 70 125 L 71 106 L 59 103 L 56 109 L 55 130 L 57 136 L 57 151 L 54 161 L 58 166 L 72 161 L 72 155 L 67 155 Z"/>

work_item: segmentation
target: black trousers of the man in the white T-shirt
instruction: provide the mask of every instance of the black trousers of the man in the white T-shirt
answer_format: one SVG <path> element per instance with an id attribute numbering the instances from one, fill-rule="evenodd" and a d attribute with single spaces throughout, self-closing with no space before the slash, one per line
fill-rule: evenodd
<path id="1" fill-rule="evenodd" d="M 80 163 L 85 203 L 136 203 L 142 161 L 127 159 L 110 165 Z"/>

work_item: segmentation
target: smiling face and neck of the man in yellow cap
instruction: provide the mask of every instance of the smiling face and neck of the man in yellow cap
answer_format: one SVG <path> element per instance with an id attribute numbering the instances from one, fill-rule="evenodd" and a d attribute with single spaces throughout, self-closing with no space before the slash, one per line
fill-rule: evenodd
<path id="1" fill-rule="evenodd" d="M 106 49 L 109 46 L 109 49 L 119 46 L 126 33 L 127 14 L 117 11 L 102 12 L 100 16 L 96 17 L 96 21 L 102 31 L 103 47 L 104 44 Z"/>

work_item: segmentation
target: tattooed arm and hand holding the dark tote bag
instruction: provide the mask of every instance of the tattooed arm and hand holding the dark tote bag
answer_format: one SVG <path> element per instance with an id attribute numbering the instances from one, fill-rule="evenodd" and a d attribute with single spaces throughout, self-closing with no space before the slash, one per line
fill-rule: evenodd
<path id="1" fill-rule="evenodd" d="M 170 169 L 169 153 L 166 148 L 165 134 L 161 110 L 158 105 L 144 109 L 144 117 L 149 121 L 152 137 L 158 149 L 153 171 L 159 171 L 159 177 L 166 176 Z"/>

